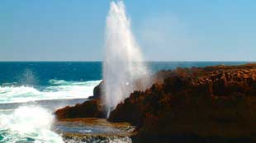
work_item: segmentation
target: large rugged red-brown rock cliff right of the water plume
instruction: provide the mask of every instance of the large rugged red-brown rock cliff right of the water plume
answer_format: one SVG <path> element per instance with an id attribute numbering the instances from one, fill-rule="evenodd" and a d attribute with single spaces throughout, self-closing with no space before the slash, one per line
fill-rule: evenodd
<path id="1" fill-rule="evenodd" d="M 255 142 L 256 64 L 159 71 L 109 121 L 138 127 L 135 142 Z"/>

